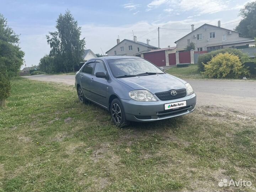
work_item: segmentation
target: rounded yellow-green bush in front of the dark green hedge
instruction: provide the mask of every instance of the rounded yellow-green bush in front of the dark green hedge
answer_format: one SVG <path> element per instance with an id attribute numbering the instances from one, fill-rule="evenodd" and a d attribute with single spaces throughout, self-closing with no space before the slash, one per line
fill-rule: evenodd
<path id="1" fill-rule="evenodd" d="M 203 65 L 203 74 L 210 78 L 239 78 L 249 75 L 249 70 L 244 68 L 239 57 L 230 53 L 219 53 Z"/>

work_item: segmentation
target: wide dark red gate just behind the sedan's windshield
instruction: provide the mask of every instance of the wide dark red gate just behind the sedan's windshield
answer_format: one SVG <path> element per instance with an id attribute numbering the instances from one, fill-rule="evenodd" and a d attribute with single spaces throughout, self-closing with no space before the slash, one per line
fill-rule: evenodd
<path id="1" fill-rule="evenodd" d="M 156 66 L 166 65 L 165 50 L 144 53 L 143 55 L 146 60 L 149 60 L 151 63 L 154 63 Z"/>

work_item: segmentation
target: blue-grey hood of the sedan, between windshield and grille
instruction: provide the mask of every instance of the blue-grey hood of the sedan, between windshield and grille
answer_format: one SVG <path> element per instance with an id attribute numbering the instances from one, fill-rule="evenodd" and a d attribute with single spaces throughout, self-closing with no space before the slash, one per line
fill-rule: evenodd
<path id="1" fill-rule="evenodd" d="M 118 81 L 132 87 L 135 90 L 146 89 L 155 94 L 169 90 L 185 89 L 186 81 L 169 74 L 145 75 L 128 78 L 118 78 Z"/>

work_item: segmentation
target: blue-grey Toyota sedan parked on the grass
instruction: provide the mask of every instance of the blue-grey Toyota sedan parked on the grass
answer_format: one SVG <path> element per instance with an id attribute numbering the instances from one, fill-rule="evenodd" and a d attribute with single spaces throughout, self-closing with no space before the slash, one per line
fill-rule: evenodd
<path id="1" fill-rule="evenodd" d="M 196 105 L 188 82 L 139 57 L 90 59 L 76 73 L 75 86 L 80 102 L 110 111 L 119 126 L 181 116 Z"/>

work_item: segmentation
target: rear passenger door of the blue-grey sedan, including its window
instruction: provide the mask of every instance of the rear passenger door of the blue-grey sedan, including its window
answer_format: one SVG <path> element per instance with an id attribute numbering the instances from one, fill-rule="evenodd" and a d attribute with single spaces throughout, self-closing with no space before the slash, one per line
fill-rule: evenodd
<path id="1" fill-rule="evenodd" d="M 85 97 L 92 99 L 92 92 L 91 92 L 91 83 L 94 78 L 93 76 L 93 70 L 95 66 L 95 60 L 92 62 L 88 62 L 84 65 L 82 68 L 82 71 L 80 73 L 80 82 L 82 86 L 82 90 L 85 94 Z"/>

